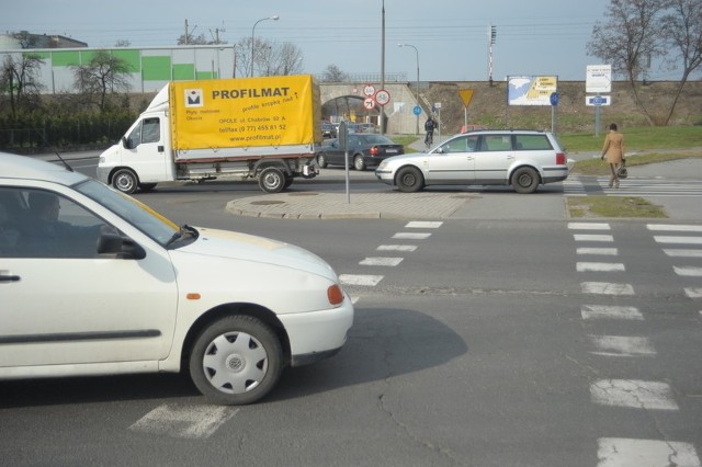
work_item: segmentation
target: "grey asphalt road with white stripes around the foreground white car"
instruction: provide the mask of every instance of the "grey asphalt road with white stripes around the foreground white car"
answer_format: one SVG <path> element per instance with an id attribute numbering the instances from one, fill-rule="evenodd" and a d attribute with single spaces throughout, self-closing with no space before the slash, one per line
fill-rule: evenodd
<path id="1" fill-rule="evenodd" d="M 179 223 L 325 258 L 355 301 L 342 352 L 286 371 L 269 398 L 240 408 L 204 406 L 174 375 L 3 381 L 3 463 L 701 465 L 698 220 L 293 220 L 224 209 L 251 195 L 258 187 L 205 184 L 137 197 Z M 530 200 L 482 196 L 496 210 Z"/>

